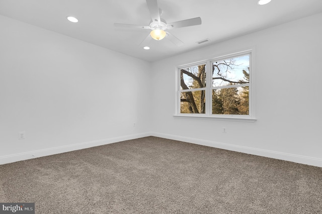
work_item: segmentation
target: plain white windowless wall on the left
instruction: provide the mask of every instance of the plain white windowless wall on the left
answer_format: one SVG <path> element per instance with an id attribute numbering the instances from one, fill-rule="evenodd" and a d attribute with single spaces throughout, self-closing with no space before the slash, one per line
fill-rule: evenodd
<path id="1" fill-rule="evenodd" d="M 0 164 L 148 135 L 150 63 L 3 16 L 0 26 Z"/>

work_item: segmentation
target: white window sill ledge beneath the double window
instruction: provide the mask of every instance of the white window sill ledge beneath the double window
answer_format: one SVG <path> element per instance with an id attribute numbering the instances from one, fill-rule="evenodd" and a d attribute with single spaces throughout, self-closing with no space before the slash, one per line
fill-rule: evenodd
<path id="1" fill-rule="evenodd" d="M 200 119 L 200 120 L 216 120 L 216 121 L 233 121 L 233 122 L 247 122 L 254 123 L 257 121 L 255 118 L 246 118 L 246 117 L 236 117 L 236 116 L 225 116 L 225 117 L 216 117 L 208 115 L 174 115 L 175 118 L 185 118 L 185 119 Z"/>

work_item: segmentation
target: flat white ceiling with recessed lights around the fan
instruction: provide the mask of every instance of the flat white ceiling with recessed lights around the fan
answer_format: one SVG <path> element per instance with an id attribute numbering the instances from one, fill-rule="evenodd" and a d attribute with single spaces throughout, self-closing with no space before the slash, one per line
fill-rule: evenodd
<path id="1" fill-rule="evenodd" d="M 322 12 L 321 0 L 158 0 L 168 23 L 201 17 L 202 25 L 169 30 L 184 45 L 167 38 L 139 44 L 150 30 L 120 29 L 114 23 L 148 26 L 145 0 L 0 0 L 0 15 L 58 32 L 146 61 L 155 61 L 228 38 L 258 31 Z M 71 23 L 66 16 L 79 22 Z M 196 42 L 209 39 L 201 45 Z"/>

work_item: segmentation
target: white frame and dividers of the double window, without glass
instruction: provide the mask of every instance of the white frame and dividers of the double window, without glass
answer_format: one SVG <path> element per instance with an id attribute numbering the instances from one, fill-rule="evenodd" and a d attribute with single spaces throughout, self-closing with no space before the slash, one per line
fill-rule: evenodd
<path id="1" fill-rule="evenodd" d="M 240 84 L 240 86 L 249 86 L 249 115 L 219 115 L 212 114 L 212 90 L 217 87 L 212 86 L 212 63 L 214 61 L 220 61 L 224 59 L 234 58 L 238 56 L 250 55 L 250 80 L 249 83 Z M 198 89 L 182 90 L 180 84 L 180 70 L 187 67 L 206 64 L 206 87 Z M 222 86 L 225 88 L 236 87 Z M 222 88 L 220 87 L 220 88 Z M 187 114 L 180 112 L 180 93 L 183 91 L 205 90 L 206 92 L 206 112 L 205 114 Z M 217 57 L 213 57 L 207 60 L 201 60 L 198 62 L 188 63 L 176 67 L 176 112 L 175 117 L 194 118 L 194 119 L 212 119 L 212 120 L 224 120 L 224 121 L 244 121 L 255 122 L 255 48 L 246 49 L 243 51 L 234 52 L 231 54 L 225 54 Z"/>

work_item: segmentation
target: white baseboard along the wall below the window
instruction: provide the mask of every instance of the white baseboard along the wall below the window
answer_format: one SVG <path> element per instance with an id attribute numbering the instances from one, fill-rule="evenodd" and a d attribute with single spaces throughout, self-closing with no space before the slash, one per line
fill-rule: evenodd
<path id="1" fill-rule="evenodd" d="M 150 134 L 151 136 L 154 136 L 154 137 L 183 141 L 187 143 L 215 147 L 215 148 L 225 149 L 225 150 L 230 150 L 235 152 L 242 152 L 242 153 L 247 153 L 252 155 L 258 155 L 258 156 L 263 156 L 268 158 L 274 158 L 279 160 L 285 160 L 285 161 L 291 161 L 295 163 L 322 167 L 322 159 L 320 158 L 312 158 L 312 157 L 306 157 L 301 155 L 275 152 L 275 151 L 264 150 L 264 149 L 256 149 L 256 148 L 245 147 L 245 146 L 236 146 L 231 144 L 218 143 L 218 142 L 200 140 L 195 138 L 187 138 L 187 137 L 177 136 L 177 135 L 168 135 L 168 134 L 162 134 L 157 132 L 151 132 Z"/>

